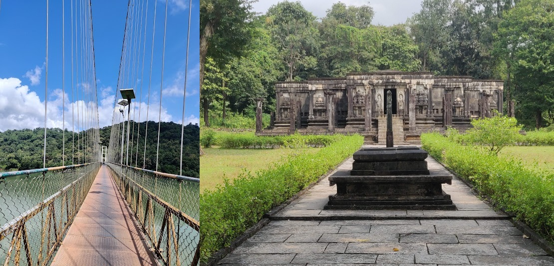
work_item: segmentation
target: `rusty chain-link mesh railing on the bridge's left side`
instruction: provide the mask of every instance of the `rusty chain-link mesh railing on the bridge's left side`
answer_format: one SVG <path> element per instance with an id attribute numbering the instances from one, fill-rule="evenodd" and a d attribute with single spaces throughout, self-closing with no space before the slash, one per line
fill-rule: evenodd
<path id="1" fill-rule="evenodd" d="M 0 264 L 48 265 L 100 163 L 0 173 Z"/>

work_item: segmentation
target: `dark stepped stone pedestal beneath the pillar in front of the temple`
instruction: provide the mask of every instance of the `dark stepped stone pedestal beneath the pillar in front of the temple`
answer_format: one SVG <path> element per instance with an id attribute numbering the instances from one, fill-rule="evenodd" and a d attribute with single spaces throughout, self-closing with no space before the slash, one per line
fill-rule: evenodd
<path id="1" fill-rule="evenodd" d="M 352 170 L 329 177 L 337 185 L 325 209 L 442 209 L 454 210 L 442 184 L 452 184 L 444 170 L 429 171 L 427 152 L 416 146 L 361 149 Z"/>

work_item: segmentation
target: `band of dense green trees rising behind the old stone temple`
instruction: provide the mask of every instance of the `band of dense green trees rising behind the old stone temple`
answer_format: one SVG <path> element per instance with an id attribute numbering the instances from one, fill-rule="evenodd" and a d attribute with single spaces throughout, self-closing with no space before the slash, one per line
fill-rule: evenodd
<path id="1" fill-rule="evenodd" d="M 224 110 L 253 116 L 256 98 L 265 99 L 264 112 L 272 111 L 275 81 L 387 69 L 503 79 L 519 121 L 552 123 L 552 1 L 424 0 L 406 23 L 384 26 L 372 23 L 370 4 L 336 2 L 316 18 L 300 2 L 253 16 L 249 2 L 235 0 L 233 10 L 242 8 L 244 16 L 233 27 L 243 28 L 244 42 L 207 53 L 204 123 Z M 232 41 L 230 35 L 220 38 Z"/>

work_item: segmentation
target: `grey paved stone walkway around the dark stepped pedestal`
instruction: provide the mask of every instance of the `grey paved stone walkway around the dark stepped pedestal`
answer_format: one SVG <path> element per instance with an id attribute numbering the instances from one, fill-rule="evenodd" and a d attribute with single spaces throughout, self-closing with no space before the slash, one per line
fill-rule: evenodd
<path id="1" fill-rule="evenodd" d="M 429 168 L 442 168 L 428 158 Z M 338 168 L 351 168 L 352 159 Z M 324 210 L 324 178 L 221 265 L 554 265 L 554 258 L 454 177 L 456 211 Z"/>

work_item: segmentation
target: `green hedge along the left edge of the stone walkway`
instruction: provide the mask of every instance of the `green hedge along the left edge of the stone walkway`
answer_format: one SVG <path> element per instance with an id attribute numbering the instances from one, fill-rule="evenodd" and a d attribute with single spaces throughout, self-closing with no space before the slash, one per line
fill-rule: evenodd
<path id="1" fill-rule="evenodd" d="M 202 259 L 205 261 L 213 252 L 227 247 L 260 221 L 264 213 L 317 181 L 363 144 L 363 137 L 359 135 L 337 136 L 337 139 L 316 154 L 291 155 L 267 170 L 244 172 L 233 183 L 226 180 L 216 190 L 203 192 L 200 195 Z"/>

